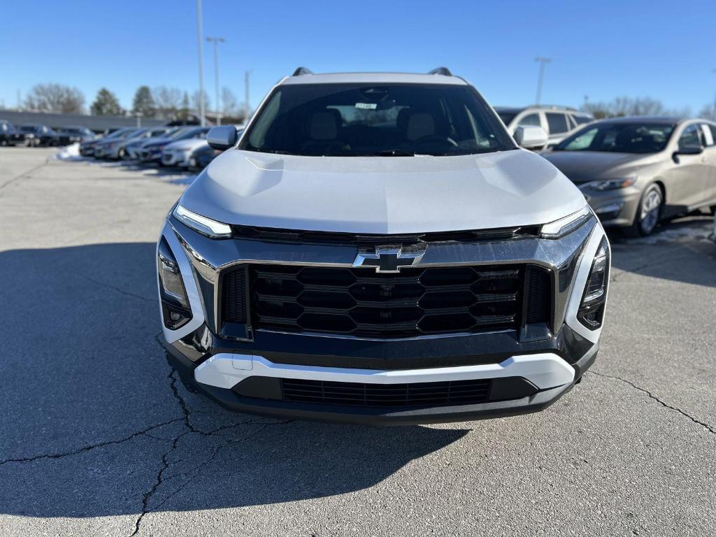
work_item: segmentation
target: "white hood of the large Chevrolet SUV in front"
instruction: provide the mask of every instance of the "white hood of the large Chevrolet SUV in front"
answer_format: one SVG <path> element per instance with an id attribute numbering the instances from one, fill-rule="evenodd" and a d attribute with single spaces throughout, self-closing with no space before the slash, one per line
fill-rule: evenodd
<path id="1" fill-rule="evenodd" d="M 530 226 L 586 205 L 526 150 L 455 157 L 299 157 L 229 150 L 180 203 L 218 221 L 347 233 Z"/>

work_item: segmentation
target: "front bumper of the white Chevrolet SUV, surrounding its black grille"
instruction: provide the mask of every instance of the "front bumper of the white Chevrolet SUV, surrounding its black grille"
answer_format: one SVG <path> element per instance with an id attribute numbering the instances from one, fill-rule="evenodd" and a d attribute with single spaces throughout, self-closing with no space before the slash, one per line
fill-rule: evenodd
<path id="1" fill-rule="evenodd" d="M 233 239 L 212 241 L 173 218 L 166 223 L 163 238 L 176 257 L 193 315 L 188 324 L 176 330 L 164 329 L 170 360 L 185 383 L 232 410 L 379 425 L 536 412 L 551 405 L 579 381 L 594 362 L 599 348 L 601 327 L 590 330 L 577 319 L 592 259 L 604 238 L 604 230 L 594 219 L 559 241 L 523 239 L 501 245 L 506 248 L 495 248 L 491 243 L 470 245 L 457 258 L 450 256 L 455 256 L 460 248 L 429 246 L 422 258 L 422 263 L 444 265 L 504 263 L 508 256 L 514 261 L 551 266 L 556 275 L 568 274 L 566 281 L 556 276 L 553 289 L 551 326 L 558 328 L 538 337 L 504 331 L 387 340 L 263 329 L 226 334 L 218 326 L 218 287 L 214 284 L 218 286 L 218 275 L 227 266 L 254 260 L 327 261 L 344 266 L 354 260 L 356 248 L 305 248 L 300 244 Z M 311 252 L 306 253 L 309 249 Z M 330 260 L 321 256 L 330 256 Z M 571 269 L 563 273 L 566 266 Z M 216 276 L 213 281 L 212 276 Z M 490 393 L 486 400 L 469 404 L 369 407 L 289 400 L 281 392 L 285 379 L 368 387 L 485 379 L 490 382 Z M 505 395 L 500 392 L 505 379 L 532 389 Z"/>

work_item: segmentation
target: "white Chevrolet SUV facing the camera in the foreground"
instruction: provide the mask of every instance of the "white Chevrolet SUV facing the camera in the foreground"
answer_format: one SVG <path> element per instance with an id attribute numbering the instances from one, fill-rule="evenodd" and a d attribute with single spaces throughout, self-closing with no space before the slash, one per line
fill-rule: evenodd
<path id="1" fill-rule="evenodd" d="M 208 142 L 225 151 L 157 246 L 188 386 L 241 412 L 441 422 L 541 410 L 594 362 L 599 221 L 447 69 L 297 69 L 240 140 Z"/>

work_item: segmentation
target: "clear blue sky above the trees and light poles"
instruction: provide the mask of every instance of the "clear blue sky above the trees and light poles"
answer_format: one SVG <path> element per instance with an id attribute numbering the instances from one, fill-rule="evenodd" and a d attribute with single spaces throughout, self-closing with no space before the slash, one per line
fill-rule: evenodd
<path id="1" fill-rule="evenodd" d="M 87 105 L 106 86 L 130 107 L 140 84 L 198 88 L 195 0 L 7 1 L 0 105 L 38 82 L 69 84 Z M 299 65 L 315 72 L 425 72 L 446 65 L 493 105 L 653 97 L 693 113 L 716 96 L 716 1 L 203 0 L 221 45 L 221 85 L 251 104 Z M 213 98 L 213 56 L 204 47 Z"/>

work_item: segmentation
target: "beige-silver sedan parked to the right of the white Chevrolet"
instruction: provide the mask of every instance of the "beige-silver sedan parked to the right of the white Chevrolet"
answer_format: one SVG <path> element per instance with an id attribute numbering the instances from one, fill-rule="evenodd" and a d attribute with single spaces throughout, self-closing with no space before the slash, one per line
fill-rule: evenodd
<path id="1" fill-rule="evenodd" d="M 619 117 L 586 125 L 543 156 L 605 226 L 649 235 L 660 220 L 716 211 L 716 123 Z"/>

